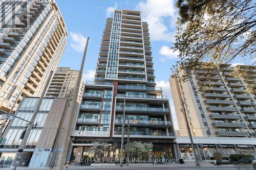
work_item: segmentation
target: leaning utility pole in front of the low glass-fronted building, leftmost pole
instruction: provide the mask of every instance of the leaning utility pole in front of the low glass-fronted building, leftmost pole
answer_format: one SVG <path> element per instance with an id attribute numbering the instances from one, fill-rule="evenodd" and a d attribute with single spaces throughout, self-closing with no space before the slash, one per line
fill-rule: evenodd
<path id="1" fill-rule="evenodd" d="M 20 145 L 19 145 L 18 151 L 17 151 L 17 153 L 16 153 L 16 155 L 15 155 L 13 161 L 12 161 L 12 164 L 11 164 L 10 169 L 14 169 L 14 170 L 15 170 L 15 169 L 16 169 L 16 166 L 18 165 L 18 163 L 19 163 L 19 161 L 20 161 L 20 158 L 22 157 L 23 151 L 24 151 L 24 149 L 25 149 L 25 145 L 26 145 L 26 143 L 27 143 L 27 141 L 28 141 L 30 132 L 31 132 L 31 130 L 32 130 L 32 128 L 33 128 L 33 124 L 34 124 L 34 122 L 35 122 L 36 115 L 37 115 L 38 110 L 39 110 L 39 108 L 40 108 L 40 106 L 41 106 L 42 100 L 44 99 L 44 96 L 45 96 L 45 94 L 46 94 L 46 90 L 47 90 L 47 88 L 48 88 L 48 86 L 49 86 L 49 84 L 50 84 L 50 81 L 51 81 L 51 78 L 52 78 L 52 74 L 53 74 L 53 71 L 50 72 L 49 78 L 48 78 L 48 80 L 47 80 L 47 82 L 46 82 L 46 85 L 45 85 L 45 87 L 44 87 L 44 90 L 42 91 L 42 94 L 41 94 L 41 96 L 40 96 L 40 98 L 39 98 L 39 101 L 38 101 L 37 104 L 36 104 L 35 110 L 34 110 L 34 112 L 33 112 L 33 114 L 32 114 L 31 119 L 30 119 L 30 123 L 29 123 L 27 129 L 25 130 L 24 137 L 23 137 L 22 142 L 21 142 Z"/>

